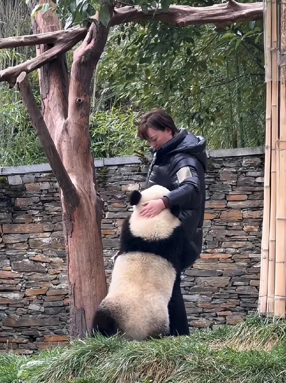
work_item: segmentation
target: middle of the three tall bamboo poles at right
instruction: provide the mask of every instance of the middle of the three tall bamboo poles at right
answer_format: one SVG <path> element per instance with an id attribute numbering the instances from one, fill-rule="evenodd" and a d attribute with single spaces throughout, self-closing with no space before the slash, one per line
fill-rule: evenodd
<path id="1" fill-rule="evenodd" d="M 267 304 L 268 316 L 274 315 L 275 249 L 276 249 L 276 139 L 277 139 L 277 10 L 271 1 L 271 197 Z"/>

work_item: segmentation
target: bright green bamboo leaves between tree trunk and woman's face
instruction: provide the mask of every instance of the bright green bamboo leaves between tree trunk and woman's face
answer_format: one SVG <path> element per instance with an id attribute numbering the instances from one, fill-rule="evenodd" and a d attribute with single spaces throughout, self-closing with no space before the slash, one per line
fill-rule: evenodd
<path id="1" fill-rule="evenodd" d="M 120 111 L 112 107 L 90 116 L 91 150 L 94 158 L 134 155 L 146 151 L 137 138 L 138 113 L 131 109 Z"/>

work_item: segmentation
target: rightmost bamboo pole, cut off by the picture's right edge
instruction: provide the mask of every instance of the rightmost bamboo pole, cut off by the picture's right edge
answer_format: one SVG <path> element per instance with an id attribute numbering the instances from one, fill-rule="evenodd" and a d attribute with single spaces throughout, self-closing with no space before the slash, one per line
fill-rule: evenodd
<path id="1" fill-rule="evenodd" d="M 279 131 L 277 140 L 277 212 L 276 212 L 276 257 L 274 315 L 285 316 L 286 303 L 286 1 L 281 1 L 279 10 Z"/>

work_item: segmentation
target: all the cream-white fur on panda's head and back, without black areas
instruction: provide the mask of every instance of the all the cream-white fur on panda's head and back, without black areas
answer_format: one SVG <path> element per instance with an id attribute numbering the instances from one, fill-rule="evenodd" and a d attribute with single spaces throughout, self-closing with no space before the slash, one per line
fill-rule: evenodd
<path id="1" fill-rule="evenodd" d="M 154 218 L 142 218 L 142 203 L 161 198 L 169 190 L 154 185 L 141 194 L 130 218 L 134 236 L 165 239 L 179 226 L 178 218 L 164 209 Z M 168 332 L 168 302 L 172 295 L 176 271 L 163 257 L 151 253 L 130 252 L 116 257 L 107 297 L 100 306 L 113 313 L 120 334 L 126 339 L 142 340 Z M 161 330 L 160 330 L 161 329 Z"/>

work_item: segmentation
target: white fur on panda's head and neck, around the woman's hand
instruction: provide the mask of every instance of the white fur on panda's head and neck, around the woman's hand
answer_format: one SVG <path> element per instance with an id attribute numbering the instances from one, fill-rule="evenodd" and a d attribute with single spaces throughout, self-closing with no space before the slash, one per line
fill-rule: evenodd
<path id="1" fill-rule="evenodd" d="M 133 206 L 133 214 L 130 217 L 130 231 L 136 237 L 144 239 L 164 239 L 171 236 L 174 229 L 180 225 L 178 218 L 173 216 L 170 209 L 163 209 L 153 218 L 140 216 L 144 208 L 142 203 L 162 198 L 169 190 L 160 185 L 153 185 L 142 191 L 140 202 Z"/>

